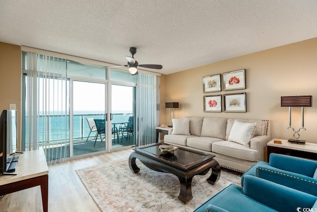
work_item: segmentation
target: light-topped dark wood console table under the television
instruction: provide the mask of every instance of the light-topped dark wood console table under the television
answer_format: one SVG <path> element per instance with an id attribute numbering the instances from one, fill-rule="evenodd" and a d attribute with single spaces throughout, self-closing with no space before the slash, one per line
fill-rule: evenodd
<path id="1" fill-rule="evenodd" d="M 19 156 L 15 173 L 0 176 L 0 195 L 41 186 L 43 211 L 48 211 L 49 168 L 43 149 L 25 151 Z M 27 211 L 27 209 L 26 209 Z"/>

